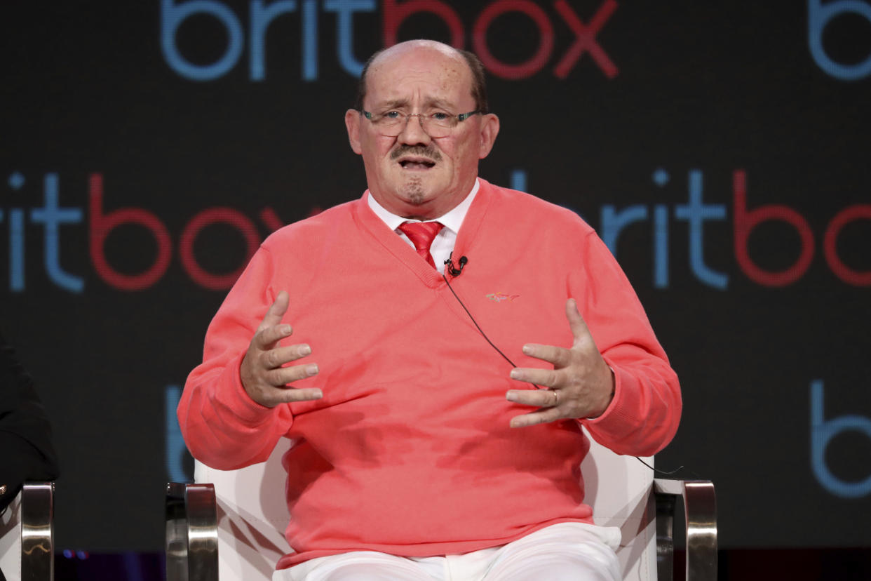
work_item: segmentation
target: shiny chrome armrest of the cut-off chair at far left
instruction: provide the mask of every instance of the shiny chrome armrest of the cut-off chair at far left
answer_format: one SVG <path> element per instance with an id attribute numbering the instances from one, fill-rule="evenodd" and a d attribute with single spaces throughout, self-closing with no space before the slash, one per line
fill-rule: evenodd
<path id="1" fill-rule="evenodd" d="M 24 483 L 21 490 L 21 578 L 54 579 L 54 483 Z"/>

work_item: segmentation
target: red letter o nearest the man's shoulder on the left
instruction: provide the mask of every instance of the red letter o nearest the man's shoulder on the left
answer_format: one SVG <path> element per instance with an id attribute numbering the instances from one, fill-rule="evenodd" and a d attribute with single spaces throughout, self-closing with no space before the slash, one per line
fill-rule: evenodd
<path id="1" fill-rule="evenodd" d="M 197 239 L 197 235 L 203 228 L 212 224 L 234 226 L 245 238 L 247 247 L 245 261 L 232 273 L 209 273 L 205 268 L 199 266 L 196 257 L 193 255 L 193 242 Z M 210 290 L 224 290 L 233 286 L 233 283 L 242 274 L 248 260 L 251 260 L 259 246 L 260 233 L 257 232 L 257 227 L 254 226 L 251 220 L 248 220 L 245 214 L 233 208 L 214 207 L 203 210 L 187 223 L 179 240 L 179 255 L 181 256 L 182 265 L 184 265 L 187 274 L 190 275 L 194 282 Z"/>

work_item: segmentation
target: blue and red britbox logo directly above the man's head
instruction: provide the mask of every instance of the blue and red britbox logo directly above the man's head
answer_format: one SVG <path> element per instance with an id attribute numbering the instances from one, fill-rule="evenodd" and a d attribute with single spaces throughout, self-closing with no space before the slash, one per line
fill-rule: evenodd
<path id="1" fill-rule="evenodd" d="M 441 0 L 382 0 L 381 38 L 383 46 L 395 44 L 402 24 L 410 17 L 425 15 L 447 27 L 450 44 L 464 48 L 471 37 L 472 50 L 476 52 L 490 73 L 500 78 L 522 79 L 540 71 L 550 71 L 557 78 L 566 78 L 584 55 L 596 63 L 606 78 L 614 78 L 618 67 L 611 61 L 608 52 L 599 44 L 597 35 L 618 8 L 615 0 L 604 0 L 598 9 L 582 18 L 565 0 L 552 3 L 536 3 L 530 0 L 495 0 L 481 3 L 483 7 L 469 22 L 456 10 Z M 267 32 L 276 18 L 292 17 L 299 26 L 300 75 L 302 80 L 316 81 L 321 67 L 318 38 L 324 15 L 335 20 L 335 57 L 342 70 L 359 77 L 363 62 L 368 55 L 354 53 L 354 30 L 359 17 L 374 14 L 378 9 L 375 0 L 250 0 L 246 15 L 237 14 L 220 0 L 161 0 L 160 2 L 160 47 L 166 64 L 184 78 L 192 81 L 212 81 L 232 71 L 247 48 L 248 78 L 263 81 L 267 78 Z M 537 29 L 538 44 L 530 55 L 519 63 L 506 63 L 496 57 L 488 43 L 489 35 L 498 33 L 494 24 L 503 14 L 515 13 L 526 18 Z M 191 42 L 187 36 L 195 27 L 208 18 L 219 24 L 226 34 L 226 45 L 217 51 L 212 62 L 193 63 L 179 50 Z M 191 21 L 189 23 L 188 21 Z M 569 30 L 573 35 L 571 44 L 557 46 L 557 31 Z M 294 38 L 296 44 L 296 38 Z M 278 55 L 271 55 L 275 58 Z M 243 64 L 242 66 L 245 66 Z"/>

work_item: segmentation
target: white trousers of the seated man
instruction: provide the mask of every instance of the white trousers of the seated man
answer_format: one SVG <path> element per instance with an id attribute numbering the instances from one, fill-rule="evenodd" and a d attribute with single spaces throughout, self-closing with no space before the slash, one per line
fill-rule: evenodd
<path id="1" fill-rule="evenodd" d="M 273 581 L 620 581 L 620 530 L 552 524 L 513 543 L 446 557 L 352 551 L 273 573 Z"/>

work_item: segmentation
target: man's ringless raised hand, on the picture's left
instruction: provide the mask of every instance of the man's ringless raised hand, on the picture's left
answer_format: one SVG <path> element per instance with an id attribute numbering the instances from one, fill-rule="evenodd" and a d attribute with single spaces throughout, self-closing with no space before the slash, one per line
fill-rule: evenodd
<path id="1" fill-rule="evenodd" d="M 279 342 L 294 332 L 290 325 L 281 324 L 281 317 L 287 312 L 290 299 L 286 291 L 281 291 L 272 307 L 263 317 L 257 333 L 254 334 L 248 351 L 242 360 L 239 373 L 242 386 L 253 401 L 267 408 L 280 403 L 318 400 L 323 397 L 320 389 L 294 388 L 290 383 L 318 374 L 316 363 L 281 367 L 311 354 L 308 345 L 281 347 Z"/>

